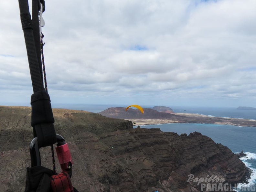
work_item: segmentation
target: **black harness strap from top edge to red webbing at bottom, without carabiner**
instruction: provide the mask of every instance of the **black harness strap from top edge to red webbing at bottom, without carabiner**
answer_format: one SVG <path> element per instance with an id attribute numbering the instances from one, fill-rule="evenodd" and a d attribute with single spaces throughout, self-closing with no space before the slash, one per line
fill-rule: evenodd
<path id="1" fill-rule="evenodd" d="M 38 11 L 41 7 L 38 6 L 39 4 L 44 5 L 44 0 L 33 0 L 33 20 L 31 20 L 28 1 L 19 0 L 21 24 L 24 31 L 30 76 L 34 91 L 34 94 L 31 96 L 31 126 L 33 127 L 34 139 L 37 143 L 37 165 L 40 165 L 39 148 L 49 146 L 57 142 L 57 137 L 53 125 L 54 117 L 52 113 L 50 97 L 43 86 L 42 61 L 40 51 L 41 41 L 38 21 Z M 51 183 L 53 186 L 52 188 Z M 27 168 L 25 192 L 52 192 L 52 190 L 55 190 L 56 192 L 77 192 L 77 190 L 72 187 L 70 177 L 65 171 L 55 175 L 52 170 L 42 166 L 33 166 Z"/>

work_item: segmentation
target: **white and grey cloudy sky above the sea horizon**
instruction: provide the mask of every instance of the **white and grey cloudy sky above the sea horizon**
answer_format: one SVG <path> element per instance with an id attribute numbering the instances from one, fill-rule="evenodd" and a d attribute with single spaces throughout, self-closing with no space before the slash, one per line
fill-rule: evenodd
<path id="1" fill-rule="evenodd" d="M 256 107 L 255 0 L 45 1 L 52 103 Z M 17 0 L 0 44 L 0 105 L 29 106 Z"/>

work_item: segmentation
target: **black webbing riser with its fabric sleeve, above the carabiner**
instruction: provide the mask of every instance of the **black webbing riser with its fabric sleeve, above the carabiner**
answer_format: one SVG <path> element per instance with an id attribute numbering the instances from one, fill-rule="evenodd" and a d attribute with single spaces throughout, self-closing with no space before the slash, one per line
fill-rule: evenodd
<path id="1" fill-rule="evenodd" d="M 34 94 L 31 96 L 31 126 L 33 126 L 34 137 L 37 137 L 38 147 L 40 148 L 55 144 L 57 139 L 53 125 L 54 118 L 50 97 L 43 86 L 38 24 L 38 0 L 33 0 L 32 4 L 33 20 L 37 20 L 34 24 L 29 13 L 28 1 L 19 0 L 21 24 L 25 37 L 27 58 L 34 91 Z"/>

